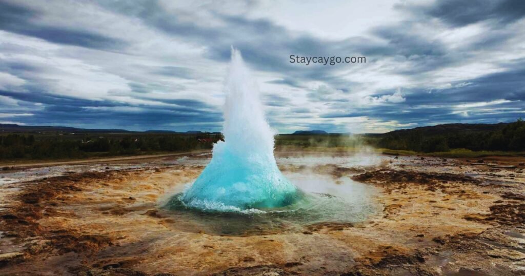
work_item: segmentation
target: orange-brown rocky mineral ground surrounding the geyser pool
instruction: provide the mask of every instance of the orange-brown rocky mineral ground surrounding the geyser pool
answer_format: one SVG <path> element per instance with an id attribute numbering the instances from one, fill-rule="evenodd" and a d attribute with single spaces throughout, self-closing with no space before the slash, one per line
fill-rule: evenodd
<path id="1" fill-rule="evenodd" d="M 160 208 L 208 158 L 3 171 L 0 274 L 525 275 L 525 159 L 281 165 L 374 186 L 382 212 L 224 235 Z"/>

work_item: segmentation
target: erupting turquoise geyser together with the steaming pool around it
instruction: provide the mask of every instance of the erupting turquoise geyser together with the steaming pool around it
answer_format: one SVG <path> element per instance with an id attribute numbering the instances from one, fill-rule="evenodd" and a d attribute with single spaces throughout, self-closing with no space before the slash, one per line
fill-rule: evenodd
<path id="1" fill-rule="evenodd" d="M 295 161 L 302 164 L 300 173 L 282 174 L 274 156 L 275 131 L 265 119 L 255 80 L 234 48 L 224 92 L 224 141 L 214 145 L 201 175 L 164 203 L 173 216 L 208 232 L 249 234 L 326 221 L 360 222 L 377 210 L 372 188 L 307 171 L 311 160 Z"/>

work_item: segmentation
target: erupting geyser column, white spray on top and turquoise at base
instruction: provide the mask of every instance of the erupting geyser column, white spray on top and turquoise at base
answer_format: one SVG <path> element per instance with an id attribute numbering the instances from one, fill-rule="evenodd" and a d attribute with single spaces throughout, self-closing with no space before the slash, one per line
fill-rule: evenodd
<path id="1" fill-rule="evenodd" d="M 255 80 L 232 48 L 225 88 L 224 141 L 180 198 L 188 207 L 239 211 L 287 206 L 299 190 L 277 168 L 274 132 L 264 116 Z"/>

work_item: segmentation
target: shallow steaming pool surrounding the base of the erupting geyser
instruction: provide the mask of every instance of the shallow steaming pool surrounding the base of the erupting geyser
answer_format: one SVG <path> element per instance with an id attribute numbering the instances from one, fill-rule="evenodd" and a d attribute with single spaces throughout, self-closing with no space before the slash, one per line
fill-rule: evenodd
<path id="1" fill-rule="evenodd" d="M 161 200 L 159 206 L 176 221 L 184 221 L 185 231 L 241 236 L 303 232 L 307 231 L 309 226 L 324 222 L 358 223 L 381 211 L 381 205 L 374 200 L 377 196 L 375 187 L 348 177 L 334 177 L 331 171 L 322 171 L 324 166 L 345 166 L 350 163 L 352 168 L 360 171 L 360 168 L 379 165 L 382 160 L 380 157 L 296 156 L 277 160 L 283 168 L 283 176 L 302 193 L 301 198 L 290 205 L 279 208 L 228 210 L 188 207 L 181 201 L 181 197 L 188 186 L 191 186 L 190 182 L 171 190 L 168 195 L 175 193 L 176 196 Z M 209 159 L 186 158 L 181 161 L 206 165 Z"/>

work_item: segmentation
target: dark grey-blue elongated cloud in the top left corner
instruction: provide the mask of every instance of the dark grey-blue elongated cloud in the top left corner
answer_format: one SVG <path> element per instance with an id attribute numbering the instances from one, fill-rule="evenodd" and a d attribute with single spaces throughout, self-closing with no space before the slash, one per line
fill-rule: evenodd
<path id="1" fill-rule="evenodd" d="M 119 39 L 60 26 L 47 26 L 36 22 L 39 11 L 22 5 L 0 1 L 0 29 L 7 32 L 33 36 L 58 44 L 75 45 L 94 49 L 120 49 L 125 43 Z"/>

